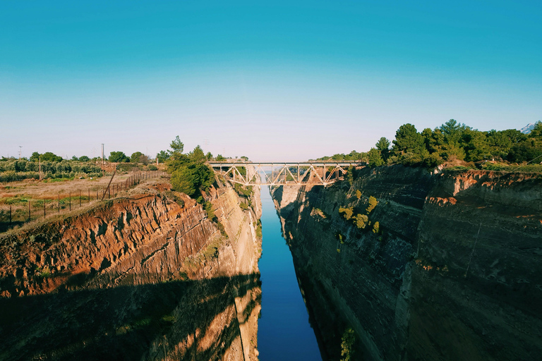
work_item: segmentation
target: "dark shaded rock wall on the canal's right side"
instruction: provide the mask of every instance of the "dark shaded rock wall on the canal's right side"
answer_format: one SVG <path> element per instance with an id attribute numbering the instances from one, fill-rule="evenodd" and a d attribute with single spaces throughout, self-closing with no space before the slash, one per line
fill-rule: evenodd
<path id="1" fill-rule="evenodd" d="M 391 166 L 272 192 L 326 360 L 350 327 L 355 359 L 542 355 L 540 176 Z"/>

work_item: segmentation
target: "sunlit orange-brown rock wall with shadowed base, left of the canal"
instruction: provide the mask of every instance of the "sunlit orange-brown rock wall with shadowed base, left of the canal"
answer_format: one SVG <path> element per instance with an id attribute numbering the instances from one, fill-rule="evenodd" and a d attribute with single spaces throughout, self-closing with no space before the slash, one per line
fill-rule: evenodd
<path id="1" fill-rule="evenodd" d="M 260 211 L 212 188 L 222 233 L 167 186 L 0 238 L 0 359 L 257 358 Z"/>

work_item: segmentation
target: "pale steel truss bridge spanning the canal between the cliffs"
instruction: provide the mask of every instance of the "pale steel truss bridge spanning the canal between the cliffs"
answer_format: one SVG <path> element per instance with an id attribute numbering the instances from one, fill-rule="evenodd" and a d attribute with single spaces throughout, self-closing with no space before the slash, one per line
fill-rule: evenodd
<path id="1" fill-rule="evenodd" d="M 212 162 L 215 171 L 242 185 L 329 185 L 344 178 L 349 166 L 361 161 L 320 161 L 304 163 Z"/>

